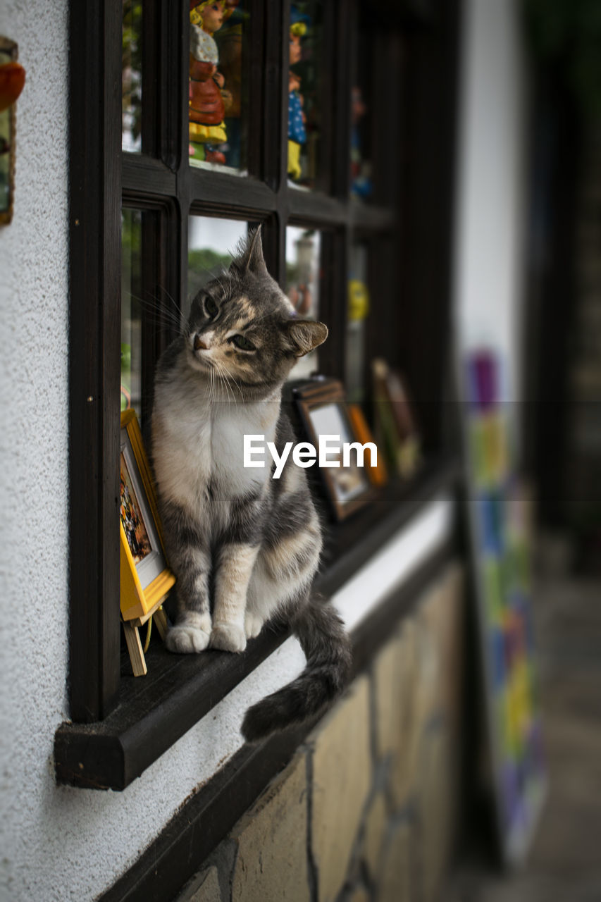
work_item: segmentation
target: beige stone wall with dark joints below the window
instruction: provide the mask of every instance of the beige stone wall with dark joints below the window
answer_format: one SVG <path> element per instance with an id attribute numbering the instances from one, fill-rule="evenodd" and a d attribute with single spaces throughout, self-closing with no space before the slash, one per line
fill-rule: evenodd
<path id="1" fill-rule="evenodd" d="M 430 902 L 457 824 L 463 575 L 452 564 L 178 902 Z"/>

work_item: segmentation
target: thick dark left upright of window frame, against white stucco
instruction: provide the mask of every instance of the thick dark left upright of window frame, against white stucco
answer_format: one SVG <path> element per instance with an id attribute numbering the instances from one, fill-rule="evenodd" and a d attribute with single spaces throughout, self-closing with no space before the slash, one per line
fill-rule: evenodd
<path id="1" fill-rule="evenodd" d="M 70 716 L 119 689 L 121 4 L 70 5 Z"/>

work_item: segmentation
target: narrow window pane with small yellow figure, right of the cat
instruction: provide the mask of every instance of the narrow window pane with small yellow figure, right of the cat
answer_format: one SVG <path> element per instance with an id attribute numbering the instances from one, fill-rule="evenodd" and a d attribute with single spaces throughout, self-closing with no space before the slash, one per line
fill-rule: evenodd
<path id="1" fill-rule="evenodd" d="M 354 243 L 348 273 L 347 317 L 347 398 L 354 403 L 365 400 L 365 320 L 369 313 L 367 289 L 367 247 Z"/>

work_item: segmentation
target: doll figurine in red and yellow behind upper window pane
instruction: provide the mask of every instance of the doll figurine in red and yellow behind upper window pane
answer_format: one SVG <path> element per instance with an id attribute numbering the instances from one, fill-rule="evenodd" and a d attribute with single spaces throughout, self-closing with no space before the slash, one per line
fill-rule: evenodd
<path id="1" fill-rule="evenodd" d="M 225 163 L 216 145 L 227 142 L 225 106 L 220 88 L 224 77 L 213 34 L 224 20 L 225 0 L 190 0 L 190 156 Z"/>

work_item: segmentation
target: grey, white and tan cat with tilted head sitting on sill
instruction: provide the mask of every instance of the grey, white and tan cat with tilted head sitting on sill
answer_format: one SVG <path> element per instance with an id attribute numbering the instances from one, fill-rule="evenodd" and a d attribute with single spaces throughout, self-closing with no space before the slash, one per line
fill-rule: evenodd
<path id="1" fill-rule="evenodd" d="M 157 364 L 151 454 L 178 598 L 167 647 L 244 651 L 265 623 L 287 621 L 307 658 L 301 676 L 245 713 L 247 741 L 325 710 L 350 670 L 342 621 L 311 594 L 322 536 L 305 470 L 290 455 L 273 479 L 273 467 L 245 467 L 243 456 L 245 434 L 279 455 L 295 441 L 282 385 L 327 336 L 296 318 L 267 272 L 259 227 L 199 291 Z"/>

